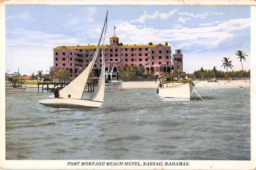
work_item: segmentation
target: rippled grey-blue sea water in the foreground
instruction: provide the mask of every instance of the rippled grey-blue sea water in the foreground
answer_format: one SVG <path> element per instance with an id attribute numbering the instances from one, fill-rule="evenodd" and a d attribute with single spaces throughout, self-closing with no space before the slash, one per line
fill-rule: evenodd
<path id="1" fill-rule="evenodd" d="M 156 89 L 105 93 L 101 108 L 48 108 L 53 93 L 6 95 L 6 159 L 250 160 L 250 89 L 197 89 L 189 101 Z"/>

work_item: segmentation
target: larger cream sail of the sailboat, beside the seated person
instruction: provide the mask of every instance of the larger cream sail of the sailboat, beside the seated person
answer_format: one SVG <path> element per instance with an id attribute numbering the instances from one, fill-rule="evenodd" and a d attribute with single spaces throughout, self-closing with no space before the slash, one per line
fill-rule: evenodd
<path id="1" fill-rule="evenodd" d="M 95 57 L 97 55 L 98 55 L 98 50 L 96 50 L 96 52 L 94 53 L 92 61 L 85 68 L 85 70 L 78 77 L 76 77 L 75 80 L 71 81 L 66 87 L 64 87 L 59 91 L 60 98 L 82 99 L 86 82 L 92 70 L 92 66 L 94 65 Z"/>

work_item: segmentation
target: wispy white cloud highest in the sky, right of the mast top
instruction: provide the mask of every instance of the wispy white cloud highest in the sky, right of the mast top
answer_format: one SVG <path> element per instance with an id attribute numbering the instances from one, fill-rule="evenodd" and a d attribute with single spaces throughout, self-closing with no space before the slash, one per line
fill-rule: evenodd
<path id="1" fill-rule="evenodd" d="M 160 13 L 159 11 L 155 11 L 152 15 L 148 14 L 147 11 L 144 11 L 143 14 L 138 19 L 134 19 L 131 22 L 144 23 L 147 19 L 157 19 L 157 18 L 165 20 L 167 18 L 170 18 L 177 11 L 178 9 L 174 9 L 167 13 L 164 13 L 164 12 Z"/>

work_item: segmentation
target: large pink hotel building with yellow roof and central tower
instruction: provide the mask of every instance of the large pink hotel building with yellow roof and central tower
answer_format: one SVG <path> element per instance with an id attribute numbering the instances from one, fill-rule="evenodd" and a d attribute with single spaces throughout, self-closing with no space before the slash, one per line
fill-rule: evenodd
<path id="1" fill-rule="evenodd" d="M 53 70 L 66 69 L 72 75 L 78 72 L 83 63 L 88 66 L 96 51 L 97 46 L 59 46 L 54 48 Z M 172 70 L 183 71 L 182 50 L 175 50 L 171 56 L 171 47 L 168 43 L 148 45 L 123 45 L 119 38 L 110 38 L 110 45 L 99 46 L 100 52 L 93 66 L 99 75 L 102 59 L 105 57 L 106 71 L 117 72 L 118 66 L 145 66 L 148 71 L 154 72 L 158 77 L 161 74 L 170 73 Z"/>

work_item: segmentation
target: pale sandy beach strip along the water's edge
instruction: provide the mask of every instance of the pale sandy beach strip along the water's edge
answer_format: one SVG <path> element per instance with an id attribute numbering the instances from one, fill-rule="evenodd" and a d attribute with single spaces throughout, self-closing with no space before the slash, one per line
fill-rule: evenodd
<path id="1" fill-rule="evenodd" d="M 250 80 L 232 80 L 225 81 L 220 80 L 217 82 L 207 82 L 207 81 L 193 81 L 195 83 L 195 89 L 203 88 L 240 88 L 250 87 Z M 159 81 L 123 81 L 123 89 L 156 89 Z M 37 85 L 24 85 L 26 88 L 37 88 Z M 53 85 L 49 85 L 52 88 Z M 42 86 L 39 88 L 42 88 Z"/>

